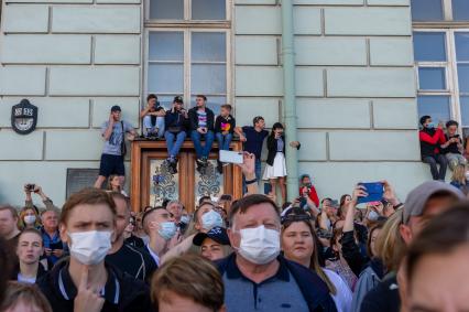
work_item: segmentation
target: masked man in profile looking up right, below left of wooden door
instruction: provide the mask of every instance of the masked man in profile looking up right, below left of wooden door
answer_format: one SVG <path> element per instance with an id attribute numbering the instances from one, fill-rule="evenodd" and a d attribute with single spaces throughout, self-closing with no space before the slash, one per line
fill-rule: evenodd
<path id="1" fill-rule="evenodd" d="M 150 237 L 146 250 L 156 266 L 161 265 L 161 257 L 167 251 L 170 240 L 178 233 L 172 214 L 164 207 L 146 211 L 142 217 L 143 229 Z"/>

